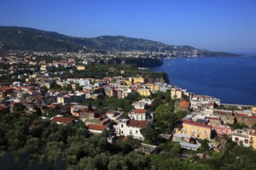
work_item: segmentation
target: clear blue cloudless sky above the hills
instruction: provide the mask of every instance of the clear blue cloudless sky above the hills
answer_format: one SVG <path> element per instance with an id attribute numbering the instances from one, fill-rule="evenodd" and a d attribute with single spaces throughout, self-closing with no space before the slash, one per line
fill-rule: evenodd
<path id="1" fill-rule="evenodd" d="M 0 26 L 256 52 L 256 0 L 0 0 Z"/>

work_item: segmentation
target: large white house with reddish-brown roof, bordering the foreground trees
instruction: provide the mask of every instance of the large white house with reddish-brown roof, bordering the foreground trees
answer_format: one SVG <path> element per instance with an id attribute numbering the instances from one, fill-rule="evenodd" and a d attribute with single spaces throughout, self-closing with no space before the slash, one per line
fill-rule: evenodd
<path id="1" fill-rule="evenodd" d="M 140 129 L 149 127 L 150 122 L 148 121 L 136 121 L 132 119 L 122 119 L 117 126 L 114 126 L 116 134 L 124 136 L 132 135 L 133 138 L 139 139 L 144 139 L 144 136 L 140 134 Z"/>

